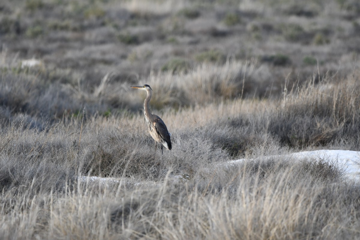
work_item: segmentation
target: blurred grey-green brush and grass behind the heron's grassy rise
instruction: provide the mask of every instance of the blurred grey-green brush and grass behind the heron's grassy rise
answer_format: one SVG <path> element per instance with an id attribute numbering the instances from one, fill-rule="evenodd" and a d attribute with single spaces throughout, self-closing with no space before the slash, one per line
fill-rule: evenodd
<path id="1" fill-rule="evenodd" d="M 280 98 L 285 85 L 354 71 L 359 16 L 355 0 L 3 0 L 0 117 L 43 126 L 84 107 L 137 111 L 143 96 L 128 87 L 145 83 L 159 110 Z"/>

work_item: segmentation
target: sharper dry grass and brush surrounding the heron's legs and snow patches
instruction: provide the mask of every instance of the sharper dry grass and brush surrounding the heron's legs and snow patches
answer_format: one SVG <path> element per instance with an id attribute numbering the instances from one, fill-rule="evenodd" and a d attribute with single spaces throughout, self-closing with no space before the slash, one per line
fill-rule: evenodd
<path id="1" fill-rule="evenodd" d="M 282 99 L 162 109 L 174 143 L 163 155 L 154 152 L 141 113 L 99 116 L 85 109 L 85 117 L 49 122 L 44 130 L 24 126 L 26 116 L 1 122 L 1 236 L 357 238 L 359 183 L 346 180 L 336 162 L 264 156 L 358 149 L 358 77 L 355 71 L 311 79 L 284 90 Z M 149 79 L 154 89 L 161 85 Z M 224 165 L 240 156 L 255 160 Z"/>

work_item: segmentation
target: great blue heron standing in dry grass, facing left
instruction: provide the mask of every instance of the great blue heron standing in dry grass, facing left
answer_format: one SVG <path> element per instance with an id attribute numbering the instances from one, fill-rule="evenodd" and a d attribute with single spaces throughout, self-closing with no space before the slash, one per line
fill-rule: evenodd
<path id="1" fill-rule="evenodd" d="M 161 143 L 161 154 L 162 154 L 162 146 L 164 146 L 167 150 L 171 150 L 170 133 L 167 131 L 165 123 L 161 120 L 159 116 L 150 113 L 149 102 L 153 90 L 147 84 L 132 88 L 141 89 L 147 92 L 144 101 L 144 114 L 145 114 L 146 122 L 148 124 L 149 133 L 155 140 L 155 151 L 156 151 L 157 142 Z"/>

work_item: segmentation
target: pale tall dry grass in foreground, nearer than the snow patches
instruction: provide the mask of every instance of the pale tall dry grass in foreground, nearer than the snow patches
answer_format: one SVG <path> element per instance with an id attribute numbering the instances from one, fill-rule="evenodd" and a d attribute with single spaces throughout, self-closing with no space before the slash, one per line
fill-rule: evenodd
<path id="1" fill-rule="evenodd" d="M 64 178 L 33 195 L 30 183 L 14 186 L 2 193 L 0 231 L 4 239 L 358 237 L 359 185 L 336 168 L 272 159 L 210 170 L 150 187 Z"/>

